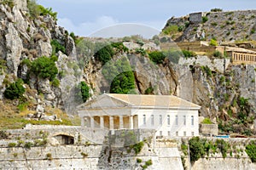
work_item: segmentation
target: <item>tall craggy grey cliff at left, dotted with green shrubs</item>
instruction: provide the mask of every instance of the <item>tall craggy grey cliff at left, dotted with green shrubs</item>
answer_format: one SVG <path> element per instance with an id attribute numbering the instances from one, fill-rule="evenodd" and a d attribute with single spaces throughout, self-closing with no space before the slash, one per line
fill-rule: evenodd
<path id="1" fill-rule="evenodd" d="M 30 8 L 33 8 L 32 5 L 36 4 L 31 4 Z M 50 13 L 35 15 L 31 10 L 27 8 L 26 0 L 0 2 L 0 96 L 3 99 L 3 92 L 9 84 L 21 78 L 26 82 L 24 97 L 32 104 L 31 110 L 35 111 L 37 105 L 64 109 L 69 98 L 69 88 L 80 81 L 79 68 L 75 74 L 74 66 L 69 66 L 76 61 L 75 44 L 67 31 L 56 25 L 56 20 Z M 65 48 L 65 52 L 54 52 L 53 42 L 55 46 Z M 37 77 L 30 71 L 31 62 L 42 56 L 57 57 L 56 78 L 60 85 L 57 83 L 54 86 L 49 78 Z"/>

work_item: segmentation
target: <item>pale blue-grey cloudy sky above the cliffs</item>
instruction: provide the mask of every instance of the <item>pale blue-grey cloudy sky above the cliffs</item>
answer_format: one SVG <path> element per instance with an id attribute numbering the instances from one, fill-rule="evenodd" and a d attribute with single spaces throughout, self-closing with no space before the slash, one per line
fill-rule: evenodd
<path id="1" fill-rule="evenodd" d="M 256 9 L 255 0 L 38 0 L 58 13 L 58 25 L 83 37 L 119 37 L 124 34 L 155 35 L 172 16 L 211 8 Z M 111 26 L 111 27 L 109 27 Z M 138 28 L 140 27 L 141 28 Z M 126 28 L 124 28 L 126 27 Z M 101 36 L 97 36 L 97 35 Z M 115 36 L 116 35 L 116 36 Z M 124 36 L 124 35 L 122 35 Z M 148 37 L 149 35 L 145 35 Z"/>

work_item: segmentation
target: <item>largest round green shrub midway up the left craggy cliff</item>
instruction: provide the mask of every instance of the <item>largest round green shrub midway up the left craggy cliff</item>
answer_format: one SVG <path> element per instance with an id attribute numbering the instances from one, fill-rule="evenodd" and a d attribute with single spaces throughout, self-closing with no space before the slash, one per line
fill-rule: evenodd
<path id="1" fill-rule="evenodd" d="M 31 71 L 40 78 L 49 78 L 50 81 L 54 80 L 58 73 L 55 62 L 45 56 L 39 57 L 32 62 Z"/>

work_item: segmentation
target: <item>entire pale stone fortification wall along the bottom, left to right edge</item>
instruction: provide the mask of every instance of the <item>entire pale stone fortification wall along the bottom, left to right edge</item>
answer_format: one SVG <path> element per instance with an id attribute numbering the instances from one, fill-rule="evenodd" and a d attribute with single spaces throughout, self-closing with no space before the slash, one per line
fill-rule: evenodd
<path id="1" fill-rule="evenodd" d="M 65 130 L 68 128 L 60 128 Z M 58 129 L 58 130 L 60 130 Z M 71 127 L 73 129 L 73 127 Z M 37 139 L 37 130 L 13 130 L 8 131 L 9 135 L 20 137 L 29 133 L 28 140 Z M 44 129 L 45 130 L 45 129 Z M 50 130 L 50 129 L 48 129 Z M 56 129 L 55 129 L 56 130 Z M 51 131 L 55 131 L 51 129 Z M 57 130 L 57 131 L 58 131 Z M 90 133 L 94 130 L 90 128 L 76 127 L 76 132 L 84 134 L 84 138 L 93 139 Z M 73 131 L 73 130 L 71 130 Z M 70 132 L 71 132 L 70 131 Z M 91 131 L 91 132 L 90 132 Z M 32 132 L 32 133 L 30 133 Z M 40 132 L 40 131 L 39 131 Z M 44 131 L 45 132 L 45 131 Z M 54 132 L 56 133 L 56 132 Z M 95 133 L 96 134 L 96 133 Z M 12 136 L 13 137 L 13 136 Z M 83 138 L 82 137 L 82 138 Z M 25 137 L 24 137 L 25 138 Z M 22 138 L 16 139 L 21 140 Z M 216 138 L 208 138 L 212 141 Z M 0 168 L 1 169 L 143 169 L 147 161 L 152 161 L 152 165 L 147 169 L 155 170 L 182 170 L 180 144 L 186 139 L 155 139 L 154 131 L 150 130 L 117 130 L 109 131 L 102 139 L 102 144 L 93 143 L 93 140 L 87 140 L 86 143 L 61 144 L 44 146 L 10 146 L 9 143 L 15 142 L 15 139 L 6 139 L 5 145 L 0 146 Z M 245 152 L 245 144 L 250 139 L 225 139 L 229 140 L 231 146 L 236 144 L 238 153 L 230 153 L 223 158 L 220 153 L 210 154 L 207 158 L 195 161 L 191 169 L 254 169 L 256 166 L 248 158 Z M 3 140 L 1 140 L 3 142 Z M 128 143 L 127 143 L 128 141 Z M 129 143 L 130 141 L 130 143 Z M 134 141 L 132 143 L 132 141 Z M 17 142 L 17 141 L 16 141 Z M 32 141 L 33 142 L 33 141 Z M 126 142 L 126 143 L 125 143 Z M 142 142 L 143 147 L 137 153 L 137 142 Z M 187 159 L 187 158 L 185 158 Z M 187 159 L 188 160 L 188 159 Z M 188 161 L 187 161 L 188 162 Z M 227 166 L 229 165 L 229 166 Z M 189 167 L 187 163 L 186 167 Z"/>

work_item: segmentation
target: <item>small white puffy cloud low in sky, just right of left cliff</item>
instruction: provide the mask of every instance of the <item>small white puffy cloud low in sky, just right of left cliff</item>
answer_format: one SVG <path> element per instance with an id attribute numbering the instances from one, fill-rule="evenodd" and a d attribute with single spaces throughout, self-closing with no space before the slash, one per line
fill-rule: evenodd
<path id="1" fill-rule="evenodd" d="M 114 20 L 110 16 L 102 16 L 97 18 L 95 22 L 84 22 L 79 26 L 75 26 L 72 20 L 69 20 L 67 18 L 58 20 L 59 26 L 63 26 L 68 31 L 73 31 L 79 36 L 89 36 L 95 31 L 101 30 L 102 28 L 107 26 L 116 25 L 118 23 L 118 20 Z"/>

